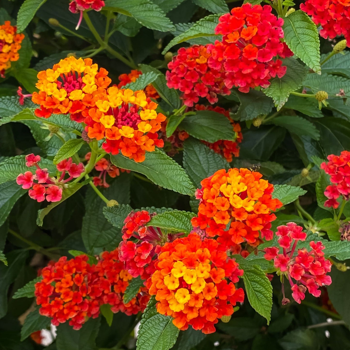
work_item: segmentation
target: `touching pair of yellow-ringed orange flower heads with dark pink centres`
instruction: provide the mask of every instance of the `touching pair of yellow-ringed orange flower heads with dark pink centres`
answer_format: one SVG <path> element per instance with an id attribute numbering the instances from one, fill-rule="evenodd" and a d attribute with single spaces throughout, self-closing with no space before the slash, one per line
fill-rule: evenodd
<path id="1" fill-rule="evenodd" d="M 91 139 L 105 139 L 107 153 L 119 151 L 137 162 L 145 160 L 146 151 L 163 147 L 156 133 L 166 119 L 155 109 L 158 104 L 146 97 L 143 91 L 108 87 L 111 79 L 104 68 L 98 70 L 90 58 L 62 59 L 52 69 L 38 73 L 32 100 L 40 105 L 38 117 L 68 114 L 78 123 L 85 124 Z"/>

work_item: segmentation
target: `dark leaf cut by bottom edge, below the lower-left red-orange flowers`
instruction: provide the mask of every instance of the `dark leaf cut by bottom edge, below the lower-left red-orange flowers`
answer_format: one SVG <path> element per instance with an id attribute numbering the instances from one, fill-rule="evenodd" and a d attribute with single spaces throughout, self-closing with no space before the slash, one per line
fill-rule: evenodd
<path id="1" fill-rule="evenodd" d="M 57 350 L 96 350 L 100 322 L 100 318 L 91 318 L 79 330 L 74 330 L 68 322 L 60 323 L 57 327 Z"/>

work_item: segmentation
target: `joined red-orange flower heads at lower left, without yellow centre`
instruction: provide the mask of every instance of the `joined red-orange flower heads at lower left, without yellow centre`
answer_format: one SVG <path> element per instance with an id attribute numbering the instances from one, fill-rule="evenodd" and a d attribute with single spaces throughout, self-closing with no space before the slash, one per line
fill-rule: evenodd
<path id="1" fill-rule="evenodd" d="M 111 305 L 114 313 L 133 315 L 144 311 L 150 297 L 145 287 L 124 303 L 132 277 L 118 256 L 117 248 L 103 252 L 96 265 L 89 264 L 86 255 L 79 255 L 70 260 L 61 257 L 44 267 L 42 280 L 35 284 L 40 314 L 51 317 L 53 325 L 69 321 L 73 329 L 80 329 L 90 317 L 99 315 L 104 304 Z"/>

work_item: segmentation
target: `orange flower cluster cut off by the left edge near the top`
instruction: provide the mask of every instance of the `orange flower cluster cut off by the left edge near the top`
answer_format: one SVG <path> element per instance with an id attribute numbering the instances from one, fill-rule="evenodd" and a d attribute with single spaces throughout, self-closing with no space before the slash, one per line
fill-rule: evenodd
<path id="1" fill-rule="evenodd" d="M 10 68 L 11 62 L 18 61 L 18 53 L 24 34 L 17 34 L 17 27 L 5 21 L 0 26 L 0 77 L 5 78 L 5 70 Z"/>

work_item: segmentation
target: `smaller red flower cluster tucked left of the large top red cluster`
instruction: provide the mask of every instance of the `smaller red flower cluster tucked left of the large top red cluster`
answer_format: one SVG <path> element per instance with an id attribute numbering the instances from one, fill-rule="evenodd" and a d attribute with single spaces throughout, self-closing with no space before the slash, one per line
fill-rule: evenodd
<path id="1" fill-rule="evenodd" d="M 224 85 L 225 73 L 222 68 L 214 69 L 208 66 L 210 54 L 207 46 L 181 48 L 168 63 L 170 71 L 166 72 L 167 85 L 179 89 L 184 104 L 189 107 L 197 103 L 199 97 L 205 97 L 214 104 L 218 101 L 217 94 L 231 93 Z"/>

